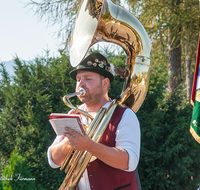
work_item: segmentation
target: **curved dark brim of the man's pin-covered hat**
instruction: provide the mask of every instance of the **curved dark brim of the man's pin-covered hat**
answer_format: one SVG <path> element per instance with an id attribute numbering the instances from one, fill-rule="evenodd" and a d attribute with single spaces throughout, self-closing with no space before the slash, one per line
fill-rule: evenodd
<path id="1" fill-rule="evenodd" d="M 98 73 L 106 78 L 109 78 L 110 82 L 112 82 L 114 80 L 114 77 L 113 75 L 109 72 L 109 71 L 106 71 L 106 70 L 101 70 L 101 69 L 95 69 L 95 68 L 87 68 L 87 67 L 84 67 L 84 68 L 76 68 L 74 70 L 72 70 L 69 75 L 72 79 L 76 80 L 76 75 L 77 75 L 77 72 L 78 71 L 91 71 L 91 72 L 94 72 L 94 73 Z"/>

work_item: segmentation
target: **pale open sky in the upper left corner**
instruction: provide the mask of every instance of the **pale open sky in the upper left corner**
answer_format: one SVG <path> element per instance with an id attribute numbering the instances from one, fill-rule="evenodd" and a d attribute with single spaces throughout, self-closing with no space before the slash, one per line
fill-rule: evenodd
<path id="1" fill-rule="evenodd" d="M 61 39 L 54 34 L 59 26 L 48 26 L 34 15 L 32 6 L 25 7 L 29 0 L 1 0 L 0 4 L 0 62 L 13 60 L 17 55 L 22 60 L 32 60 L 45 55 L 56 56 Z"/>

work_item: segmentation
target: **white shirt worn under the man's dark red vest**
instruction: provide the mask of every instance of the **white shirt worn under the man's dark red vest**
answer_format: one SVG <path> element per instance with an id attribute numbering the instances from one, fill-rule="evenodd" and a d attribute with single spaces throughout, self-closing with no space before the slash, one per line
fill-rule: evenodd
<path id="1" fill-rule="evenodd" d="M 103 107 L 108 108 L 109 105 L 110 102 L 106 103 Z M 79 109 L 86 111 L 84 104 L 81 105 Z M 84 115 L 81 115 L 81 117 L 82 123 L 87 125 L 87 117 Z M 126 171 L 134 171 L 138 165 L 140 156 L 140 125 L 136 114 L 130 108 L 127 108 L 123 113 L 122 119 L 118 124 L 115 135 L 115 147 L 125 149 L 129 154 L 129 167 Z M 57 136 L 52 145 L 60 141 L 62 141 L 62 136 Z M 49 165 L 52 168 L 58 168 L 60 166 L 56 165 L 51 159 L 51 146 L 48 148 L 47 151 Z M 83 177 L 79 182 L 78 188 L 79 190 L 90 190 L 87 169 L 85 170 Z"/>

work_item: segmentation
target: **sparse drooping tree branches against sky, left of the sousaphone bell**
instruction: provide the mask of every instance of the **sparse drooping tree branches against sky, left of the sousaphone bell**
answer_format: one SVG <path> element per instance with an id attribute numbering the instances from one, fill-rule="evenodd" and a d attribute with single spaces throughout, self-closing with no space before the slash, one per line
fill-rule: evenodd
<path id="1" fill-rule="evenodd" d="M 119 4 L 119 0 L 113 2 Z M 27 6 L 35 9 L 35 14 L 39 16 L 39 20 L 45 20 L 50 25 L 60 24 L 58 36 L 63 37 L 66 41 L 66 48 L 69 50 L 72 31 L 75 24 L 76 15 L 80 7 L 81 0 L 42 0 L 37 2 L 30 0 Z"/>

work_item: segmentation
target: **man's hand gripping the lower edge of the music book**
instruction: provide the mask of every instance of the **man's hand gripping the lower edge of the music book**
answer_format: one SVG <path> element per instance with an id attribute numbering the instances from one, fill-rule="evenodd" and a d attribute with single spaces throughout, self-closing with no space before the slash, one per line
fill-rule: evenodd
<path id="1" fill-rule="evenodd" d="M 86 134 L 81 135 L 68 127 L 65 130 L 67 131 L 65 136 L 69 139 L 69 144 L 73 149 L 81 151 L 88 150 L 88 147 L 93 141 Z"/>

